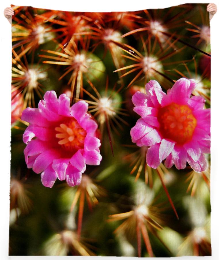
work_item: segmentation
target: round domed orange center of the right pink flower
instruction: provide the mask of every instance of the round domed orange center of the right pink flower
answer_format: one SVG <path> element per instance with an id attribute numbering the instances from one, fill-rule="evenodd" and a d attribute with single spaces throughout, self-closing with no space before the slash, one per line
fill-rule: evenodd
<path id="1" fill-rule="evenodd" d="M 187 105 L 171 103 L 158 111 L 158 122 L 163 138 L 184 144 L 191 140 L 197 121 Z"/>

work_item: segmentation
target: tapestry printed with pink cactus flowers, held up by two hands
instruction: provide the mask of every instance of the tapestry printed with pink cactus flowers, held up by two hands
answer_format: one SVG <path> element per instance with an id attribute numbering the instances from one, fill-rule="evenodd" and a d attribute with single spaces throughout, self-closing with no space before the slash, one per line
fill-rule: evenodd
<path id="1" fill-rule="evenodd" d="M 206 7 L 12 5 L 9 255 L 211 255 Z"/>

